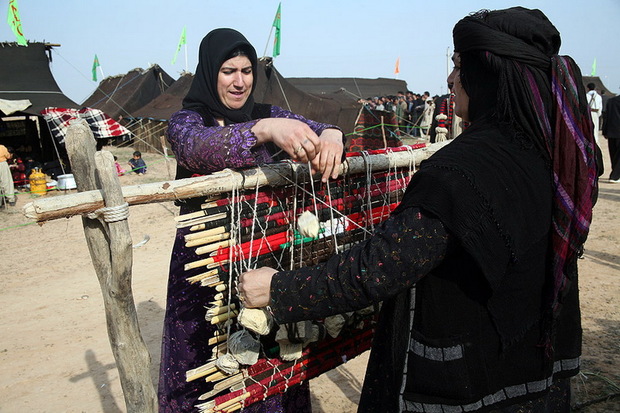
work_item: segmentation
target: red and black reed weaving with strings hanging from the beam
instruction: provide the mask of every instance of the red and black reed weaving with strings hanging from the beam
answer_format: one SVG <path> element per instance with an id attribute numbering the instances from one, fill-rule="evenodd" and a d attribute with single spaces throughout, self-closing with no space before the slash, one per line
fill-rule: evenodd
<path id="1" fill-rule="evenodd" d="M 188 281 L 214 289 L 209 294 L 213 301 L 205 303 L 207 320 L 216 326 L 209 340 L 212 360 L 186 373 L 188 381 L 205 382 L 197 406 L 200 411 L 232 412 L 247 407 L 370 348 L 378 306 L 279 329 L 266 321 L 267 328 L 258 334 L 260 329 L 239 323 L 242 304 L 235 285 L 238 276 L 250 269 L 314 265 L 368 238 L 398 205 L 415 172 L 416 149 L 425 146 L 350 153 L 347 163 L 362 162 L 366 172 L 348 172 L 328 184 L 292 173 L 292 179 L 285 178 L 282 186 L 233 188 L 210 196 L 201 210 L 177 218 L 178 227 L 190 229 L 186 247 L 195 248 L 201 257 L 186 264 L 186 271 L 200 271 Z M 383 170 L 369 166 L 370 156 L 393 152 L 405 154 L 407 161 Z M 309 212 L 320 224 L 310 234 L 307 230 L 300 233 L 299 217 Z M 268 317 L 266 310 L 249 311 Z M 237 350 L 240 337 L 250 345 Z M 248 361 L 246 350 L 253 346 L 255 355 Z"/>

